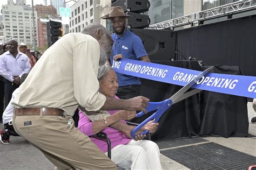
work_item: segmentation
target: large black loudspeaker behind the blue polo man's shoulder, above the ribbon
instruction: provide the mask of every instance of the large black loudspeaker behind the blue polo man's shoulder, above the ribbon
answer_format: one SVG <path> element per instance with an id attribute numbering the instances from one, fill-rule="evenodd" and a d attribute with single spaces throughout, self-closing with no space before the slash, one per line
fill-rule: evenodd
<path id="1" fill-rule="evenodd" d="M 171 30 L 130 29 L 139 36 L 151 61 L 171 61 L 174 59 Z"/>

